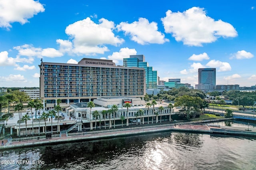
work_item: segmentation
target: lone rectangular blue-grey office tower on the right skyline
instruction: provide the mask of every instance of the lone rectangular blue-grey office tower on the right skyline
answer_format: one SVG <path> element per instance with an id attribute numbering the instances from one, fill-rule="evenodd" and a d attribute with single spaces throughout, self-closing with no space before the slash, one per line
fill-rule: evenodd
<path id="1" fill-rule="evenodd" d="M 216 68 L 198 68 L 196 89 L 213 90 L 216 88 Z"/>

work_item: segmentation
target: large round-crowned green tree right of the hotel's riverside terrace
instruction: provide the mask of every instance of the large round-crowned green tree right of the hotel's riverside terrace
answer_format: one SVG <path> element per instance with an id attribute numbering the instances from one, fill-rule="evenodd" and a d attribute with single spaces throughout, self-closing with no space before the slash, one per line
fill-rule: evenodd
<path id="1" fill-rule="evenodd" d="M 186 118 L 189 119 L 190 113 L 198 111 L 202 102 L 200 97 L 180 96 L 175 99 L 174 106 L 181 106 L 186 113 Z"/>

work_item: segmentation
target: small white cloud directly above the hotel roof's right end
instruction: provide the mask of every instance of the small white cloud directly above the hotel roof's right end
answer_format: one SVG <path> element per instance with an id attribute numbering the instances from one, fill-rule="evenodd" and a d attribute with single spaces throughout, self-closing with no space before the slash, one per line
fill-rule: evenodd
<path id="1" fill-rule="evenodd" d="M 113 60 L 114 63 L 119 63 L 123 61 L 124 58 L 129 58 L 130 55 L 136 55 L 137 51 L 135 49 L 122 48 L 119 52 L 114 52 L 112 55 L 108 56 L 108 59 Z"/>

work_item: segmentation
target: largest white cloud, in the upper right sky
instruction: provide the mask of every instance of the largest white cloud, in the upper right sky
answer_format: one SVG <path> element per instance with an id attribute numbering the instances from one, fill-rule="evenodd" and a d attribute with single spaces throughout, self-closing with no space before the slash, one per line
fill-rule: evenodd
<path id="1" fill-rule="evenodd" d="M 172 33 L 176 41 L 185 45 L 202 46 L 212 43 L 219 37 L 236 37 L 234 27 L 222 20 L 215 21 L 206 16 L 204 8 L 192 7 L 184 12 L 168 10 L 161 18 L 166 33 Z"/>

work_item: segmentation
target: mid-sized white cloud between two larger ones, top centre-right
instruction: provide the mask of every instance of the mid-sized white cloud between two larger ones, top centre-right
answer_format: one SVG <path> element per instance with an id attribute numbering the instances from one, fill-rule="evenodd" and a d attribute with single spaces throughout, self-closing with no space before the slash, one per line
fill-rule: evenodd
<path id="1" fill-rule="evenodd" d="M 157 31 L 157 23 L 151 22 L 146 18 L 139 18 L 133 23 L 121 22 L 117 25 L 118 31 L 124 31 L 125 35 L 130 35 L 132 41 L 141 45 L 156 43 L 163 44 L 169 42 L 169 39 L 164 38 L 164 34 Z"/>

